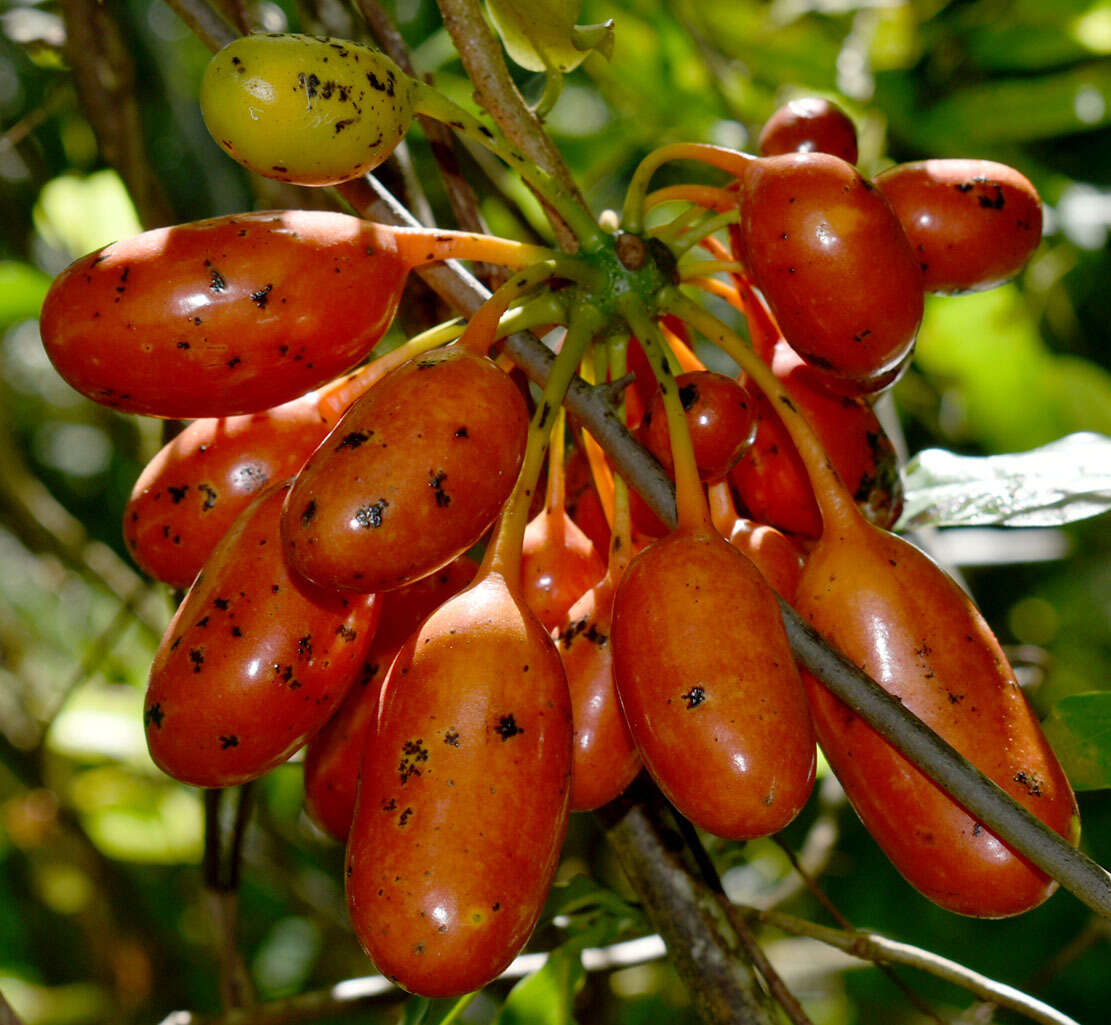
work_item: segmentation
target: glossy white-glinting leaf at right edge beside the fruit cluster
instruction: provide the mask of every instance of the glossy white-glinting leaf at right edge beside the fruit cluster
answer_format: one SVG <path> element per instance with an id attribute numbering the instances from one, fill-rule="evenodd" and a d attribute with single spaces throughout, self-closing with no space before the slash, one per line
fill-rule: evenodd
<path id="1" fill-rule="evenodd" d="M 1111 438 L 1070 434 L 1015 455 L 927 449 L 905 471 L 897 530 L 1059 526 L 1111 509 Z"/>

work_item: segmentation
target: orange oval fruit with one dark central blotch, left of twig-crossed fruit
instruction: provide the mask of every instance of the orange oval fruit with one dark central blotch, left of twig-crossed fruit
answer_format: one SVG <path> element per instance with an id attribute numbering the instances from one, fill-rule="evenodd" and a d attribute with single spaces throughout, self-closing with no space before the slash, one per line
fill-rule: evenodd
<path id="1" fill-rule="evenodd" d="M 677 531 L 629 564 L 612 629 L 629 732 L 668 800 L 728 840 L 783 828 L 810 794 L 815 746 L 755 566 L 717 532 Z"/>

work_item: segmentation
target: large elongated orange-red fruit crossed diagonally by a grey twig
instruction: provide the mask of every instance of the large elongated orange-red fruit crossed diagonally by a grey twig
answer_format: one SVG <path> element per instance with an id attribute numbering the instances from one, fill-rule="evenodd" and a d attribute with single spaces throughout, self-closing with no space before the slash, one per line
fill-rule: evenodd
<path id="1" fill-rule="evenodd" d="M 918 549 L 862 521 L 823 537 L 800 614 L 978 768 L 1075 843 L 1075 800 L 999 642 Z M 868 831 L 917 890 L 950 911 L 1002 917 L 1055 883 L 1004 846 L 808 673 L 819 743 Z"/>

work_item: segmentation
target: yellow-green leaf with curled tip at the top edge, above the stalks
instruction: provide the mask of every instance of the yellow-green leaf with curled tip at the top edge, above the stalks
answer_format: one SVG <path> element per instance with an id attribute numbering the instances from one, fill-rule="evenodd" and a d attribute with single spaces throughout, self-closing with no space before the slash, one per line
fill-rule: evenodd
<path id="1" fill-rule="evenodd" d="M 573 71 L 597 50 L 613 52 L 613 21 L 575 24 L 582 0 L 487 0 L 509 56 L 529 71 Z"/>

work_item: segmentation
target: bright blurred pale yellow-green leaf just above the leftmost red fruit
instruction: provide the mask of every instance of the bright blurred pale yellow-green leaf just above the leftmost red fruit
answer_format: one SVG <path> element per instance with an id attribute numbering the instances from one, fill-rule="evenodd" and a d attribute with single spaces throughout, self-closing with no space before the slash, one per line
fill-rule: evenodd
<path id="1" fill-rule="evenodd" d="M 48 181 L 39 193 L 33 219 L 39 233 L 74 260 L 142 231 L 127 187 L 112 170 L 87 178 L 63 174 Z"/>

